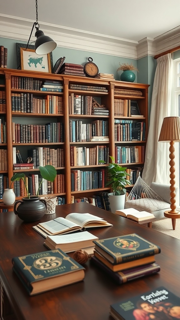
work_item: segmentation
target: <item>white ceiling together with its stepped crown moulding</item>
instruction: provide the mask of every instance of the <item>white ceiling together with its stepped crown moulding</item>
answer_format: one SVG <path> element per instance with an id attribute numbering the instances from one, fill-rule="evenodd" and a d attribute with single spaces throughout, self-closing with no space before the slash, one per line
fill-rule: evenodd
<path id="1" fill-rule="evenodd" d="M 180 43 L 179 0 L 37 0 L 58 46 L 139 59 Z M 28 41 L 35 0 L 0 0 L 0 36 Z M 170 31 L 171 30 L 171 31 Z M 31 41 L 35 40 L 35 30 Z"/>

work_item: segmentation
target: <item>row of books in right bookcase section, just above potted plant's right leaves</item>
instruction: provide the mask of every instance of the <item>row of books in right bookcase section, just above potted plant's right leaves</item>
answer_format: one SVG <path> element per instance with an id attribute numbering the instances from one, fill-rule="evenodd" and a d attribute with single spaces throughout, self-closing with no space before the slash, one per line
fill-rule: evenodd
<path id="1" fill-rule="evenodd" d="M 144 155 L 144 146 L 115 146 L 115 162 L 117 164 L 144 162 Z"/>

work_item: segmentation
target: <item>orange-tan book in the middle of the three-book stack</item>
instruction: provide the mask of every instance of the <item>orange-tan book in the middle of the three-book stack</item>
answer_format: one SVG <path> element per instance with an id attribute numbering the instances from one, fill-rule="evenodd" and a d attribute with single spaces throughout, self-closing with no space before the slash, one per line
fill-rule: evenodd
<path id="1" fill-rule="evenodd" d="M 118 263 L 118 264 L 112 264 L 109 260 L 104 258 L 96 250 L 94 250 L 94 256 L 98 260 L 100 260 L 103 264 L 105 264 L 113 272 L 122 271 L 122 270 L 130 269 L 130 268 L 135 268 L 135 267 L 138 267 L 138 266 L 143 266 L 145 264 L 154 263 L 155 262 L 155 256 L 154 255 L 153 256 L 149 256 L 149 257 L 145 257 L 145 258 L 141 258 L 141 259 L 137 259 L 137 260 L 133 260 L 133 261 Z"/>

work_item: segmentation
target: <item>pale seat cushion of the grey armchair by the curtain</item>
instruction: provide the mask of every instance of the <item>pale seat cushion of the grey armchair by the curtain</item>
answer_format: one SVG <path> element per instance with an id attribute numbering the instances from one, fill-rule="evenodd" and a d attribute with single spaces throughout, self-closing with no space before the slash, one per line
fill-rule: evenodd
<path id="1" fill-rule="evenodd" d="M 125 202 L 125 209 L 127 208 L 134 208 L 139 211 L 147 211 L 154 214 L 154 212 L 157 210 L 159 211 L 170 208 L 170 205 L 165 201 L 141 198 L 136 200 L 127 200 Z"/>

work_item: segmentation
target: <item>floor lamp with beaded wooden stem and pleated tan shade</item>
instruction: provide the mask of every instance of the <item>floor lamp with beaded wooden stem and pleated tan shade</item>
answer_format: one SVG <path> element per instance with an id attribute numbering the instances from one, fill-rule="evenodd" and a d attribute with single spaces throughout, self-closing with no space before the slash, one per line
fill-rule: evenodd
<path id="1" fill-rule="evenodd" d="M 164 216 L 172 219 L 173 230 L 176 227 L 176 219 L 180 218 L 180 212 L 176 210 L 176 193 L 175 193 L 175 162 L 174 162 L 174 142 L 180 141 L 180 117 L 165 117 L 162 123 L 158 141 L 170 142 L 169 147 L 169 165 L 170 165 L 170 208 L 165 211 Z"/>

